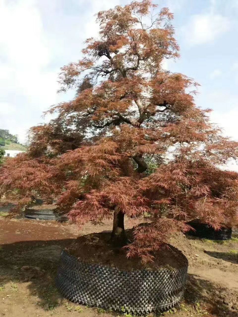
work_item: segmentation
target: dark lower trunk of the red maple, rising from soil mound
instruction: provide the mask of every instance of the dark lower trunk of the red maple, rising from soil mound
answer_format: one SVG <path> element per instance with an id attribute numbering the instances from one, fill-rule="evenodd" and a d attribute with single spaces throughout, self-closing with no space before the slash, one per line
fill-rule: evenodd
<path id="1" fill-rule="evenodd" d="M 111 240 L 118 244 L 124 244 L 126 241 L 124 213 L 118 207 L 114 210 Z"/>

